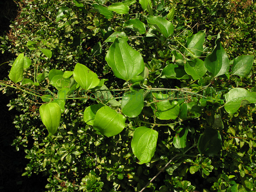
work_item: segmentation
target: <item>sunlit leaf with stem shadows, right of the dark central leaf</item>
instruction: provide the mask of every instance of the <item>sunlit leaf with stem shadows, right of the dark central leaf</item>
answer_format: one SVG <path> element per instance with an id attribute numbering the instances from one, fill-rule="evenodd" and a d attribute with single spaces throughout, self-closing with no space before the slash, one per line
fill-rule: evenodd
<path id="1" fill-rule="evenodd" d="M 153 110 L 156 110 L 156 117 L 160 120 L 175 120 L 179 113 L 180 113 L 180 107 L 177 101 L 170 101 L 167 100 L 169 98 L 169 95 L 167 94 L 157 94 L 153 93 L 153 96 L 156 100 L 159 102 L 151 104 L 151 107 Z M 161 101 L 163 100 L 163 101 Z M 153 102 L 153 100 L 150 100 Z"/>

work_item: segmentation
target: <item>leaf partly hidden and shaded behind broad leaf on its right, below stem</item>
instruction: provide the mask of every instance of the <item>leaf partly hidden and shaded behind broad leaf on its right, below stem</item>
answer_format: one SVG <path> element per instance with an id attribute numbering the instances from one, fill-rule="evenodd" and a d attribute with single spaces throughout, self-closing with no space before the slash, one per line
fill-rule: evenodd
<path id="1" fill-rule="evenodd" d="M 96 105 L 86 107 L 86 109 L 83 112 L 83 121 L 85 121 L 87 125 L 93 125 L 97 111 L 103 106 L 103 104 L 99 103 Z"/>

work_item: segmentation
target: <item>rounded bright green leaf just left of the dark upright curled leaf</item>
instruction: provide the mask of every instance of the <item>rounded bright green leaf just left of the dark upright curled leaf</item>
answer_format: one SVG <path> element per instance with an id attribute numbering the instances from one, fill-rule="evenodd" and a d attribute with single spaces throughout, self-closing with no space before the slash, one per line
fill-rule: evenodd
<path id="1" fill-rule="evenodd" d="M 206 74 L 207 69 L 204 67 L 204 63 L 201 59 L 195 58 L 192 61 L 186 61 L 185 71 L 191 75 L 194 80 L 202 78 Z"/>

